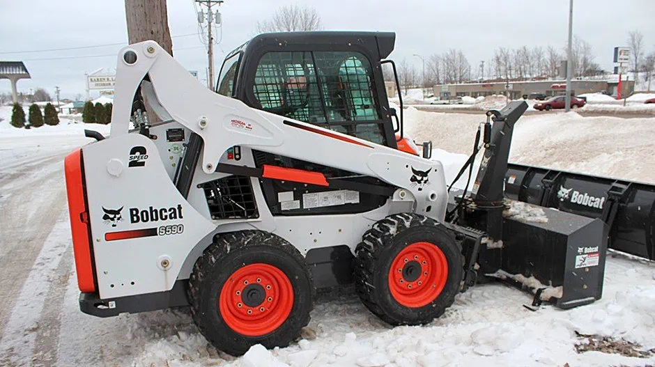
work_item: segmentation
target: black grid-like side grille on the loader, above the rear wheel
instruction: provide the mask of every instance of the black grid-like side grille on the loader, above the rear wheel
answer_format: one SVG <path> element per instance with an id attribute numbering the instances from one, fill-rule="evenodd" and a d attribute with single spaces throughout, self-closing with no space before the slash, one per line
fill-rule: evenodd
<path id="1" fill-rule="evenodd" d="M 199 185 L 205 192 L 212 219 L 258 218 L 250 178 L 231 175 Z"/>

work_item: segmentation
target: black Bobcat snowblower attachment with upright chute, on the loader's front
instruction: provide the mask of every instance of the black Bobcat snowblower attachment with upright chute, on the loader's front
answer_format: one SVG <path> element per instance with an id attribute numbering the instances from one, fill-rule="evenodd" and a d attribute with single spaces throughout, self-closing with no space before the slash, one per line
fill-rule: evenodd
<path id="1" fill-rule="evenodd" d="M 607 225 L 503 197 L 511 135 L 525 109 L 525 102 L 511 102 L 487 112 L 479 172 L 469 195 L 451 195 L 449 219 L 486 233 L 481 243 L 465 246 L 467 258 L 479 253 L 477 274 L 529 289 L 535 306 L 542 300 L 562 309 L 592 303 L 602 296 Z"/>

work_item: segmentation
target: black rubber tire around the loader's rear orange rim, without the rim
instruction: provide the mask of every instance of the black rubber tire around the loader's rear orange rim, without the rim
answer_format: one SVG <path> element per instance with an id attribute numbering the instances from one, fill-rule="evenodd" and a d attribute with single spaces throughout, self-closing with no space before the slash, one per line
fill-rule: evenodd
<path id="1" fill-rule="evenodd" d="M 266 263 L 282 270 L 293 287 L 293 306 L 288 318 L 263 336 L 245 336 L 223 320 L 218 302 L 224 283 L 245 265 Z M 309 323 L 314 290 L 311 272 L 298 249 L 282 237 L 263 231 L 238 231 L 217 236 L 196 260 L 187 293 L 195 324 L 217 349 L 238 356 L 252 345 L 286 347 Z"/>

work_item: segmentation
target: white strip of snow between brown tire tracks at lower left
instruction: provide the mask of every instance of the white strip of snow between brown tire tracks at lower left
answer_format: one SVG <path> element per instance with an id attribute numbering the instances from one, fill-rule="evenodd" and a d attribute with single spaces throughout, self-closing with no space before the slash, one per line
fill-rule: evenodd
<path id="1" fill-rule="evenodd" d="M 0 364 L 31 366 L 32 349 L 38 331 L 44 325 L 41 313 L 52 286 L 53 276 L 66 251 L 70 251 L 68 214 L 59 212 L 56 224 L 49 233 L 24 281 L 20 295 L 11 310 L 0 340 Z M 19 263 L 20 264 L 20 263 Z M 16 292 L 15 294 L 19 294 Z M 56 305 L 59 307 L 59 304 Z"/>

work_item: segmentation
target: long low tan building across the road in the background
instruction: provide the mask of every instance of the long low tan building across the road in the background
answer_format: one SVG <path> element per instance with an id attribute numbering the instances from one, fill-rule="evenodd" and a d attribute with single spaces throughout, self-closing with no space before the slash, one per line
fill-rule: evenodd
<path id="1" fill-rule="evenodd" d="M 615 78 L 614 78 L 615 77 Z M 584 93 L 607 92 L 617 95 L 619 79 L 617 75 L 605 79 L 571 80 L 571 93 L 580 95 Z M 633 93 L 634 80 L 623 81 L 622 95 Z M 434 95 L 447 99 L 449 97 L 479 97 L 486 95 L 509 95 L 512 100 L 518 100 L 530 93 L 544 93 L 548 96 L 564 95 L 567 91 L 565 80 L 530 80 L 530 81 L 495 81 L 491 83 L 462 83 L 440 84 L 433 87 Z"/>

